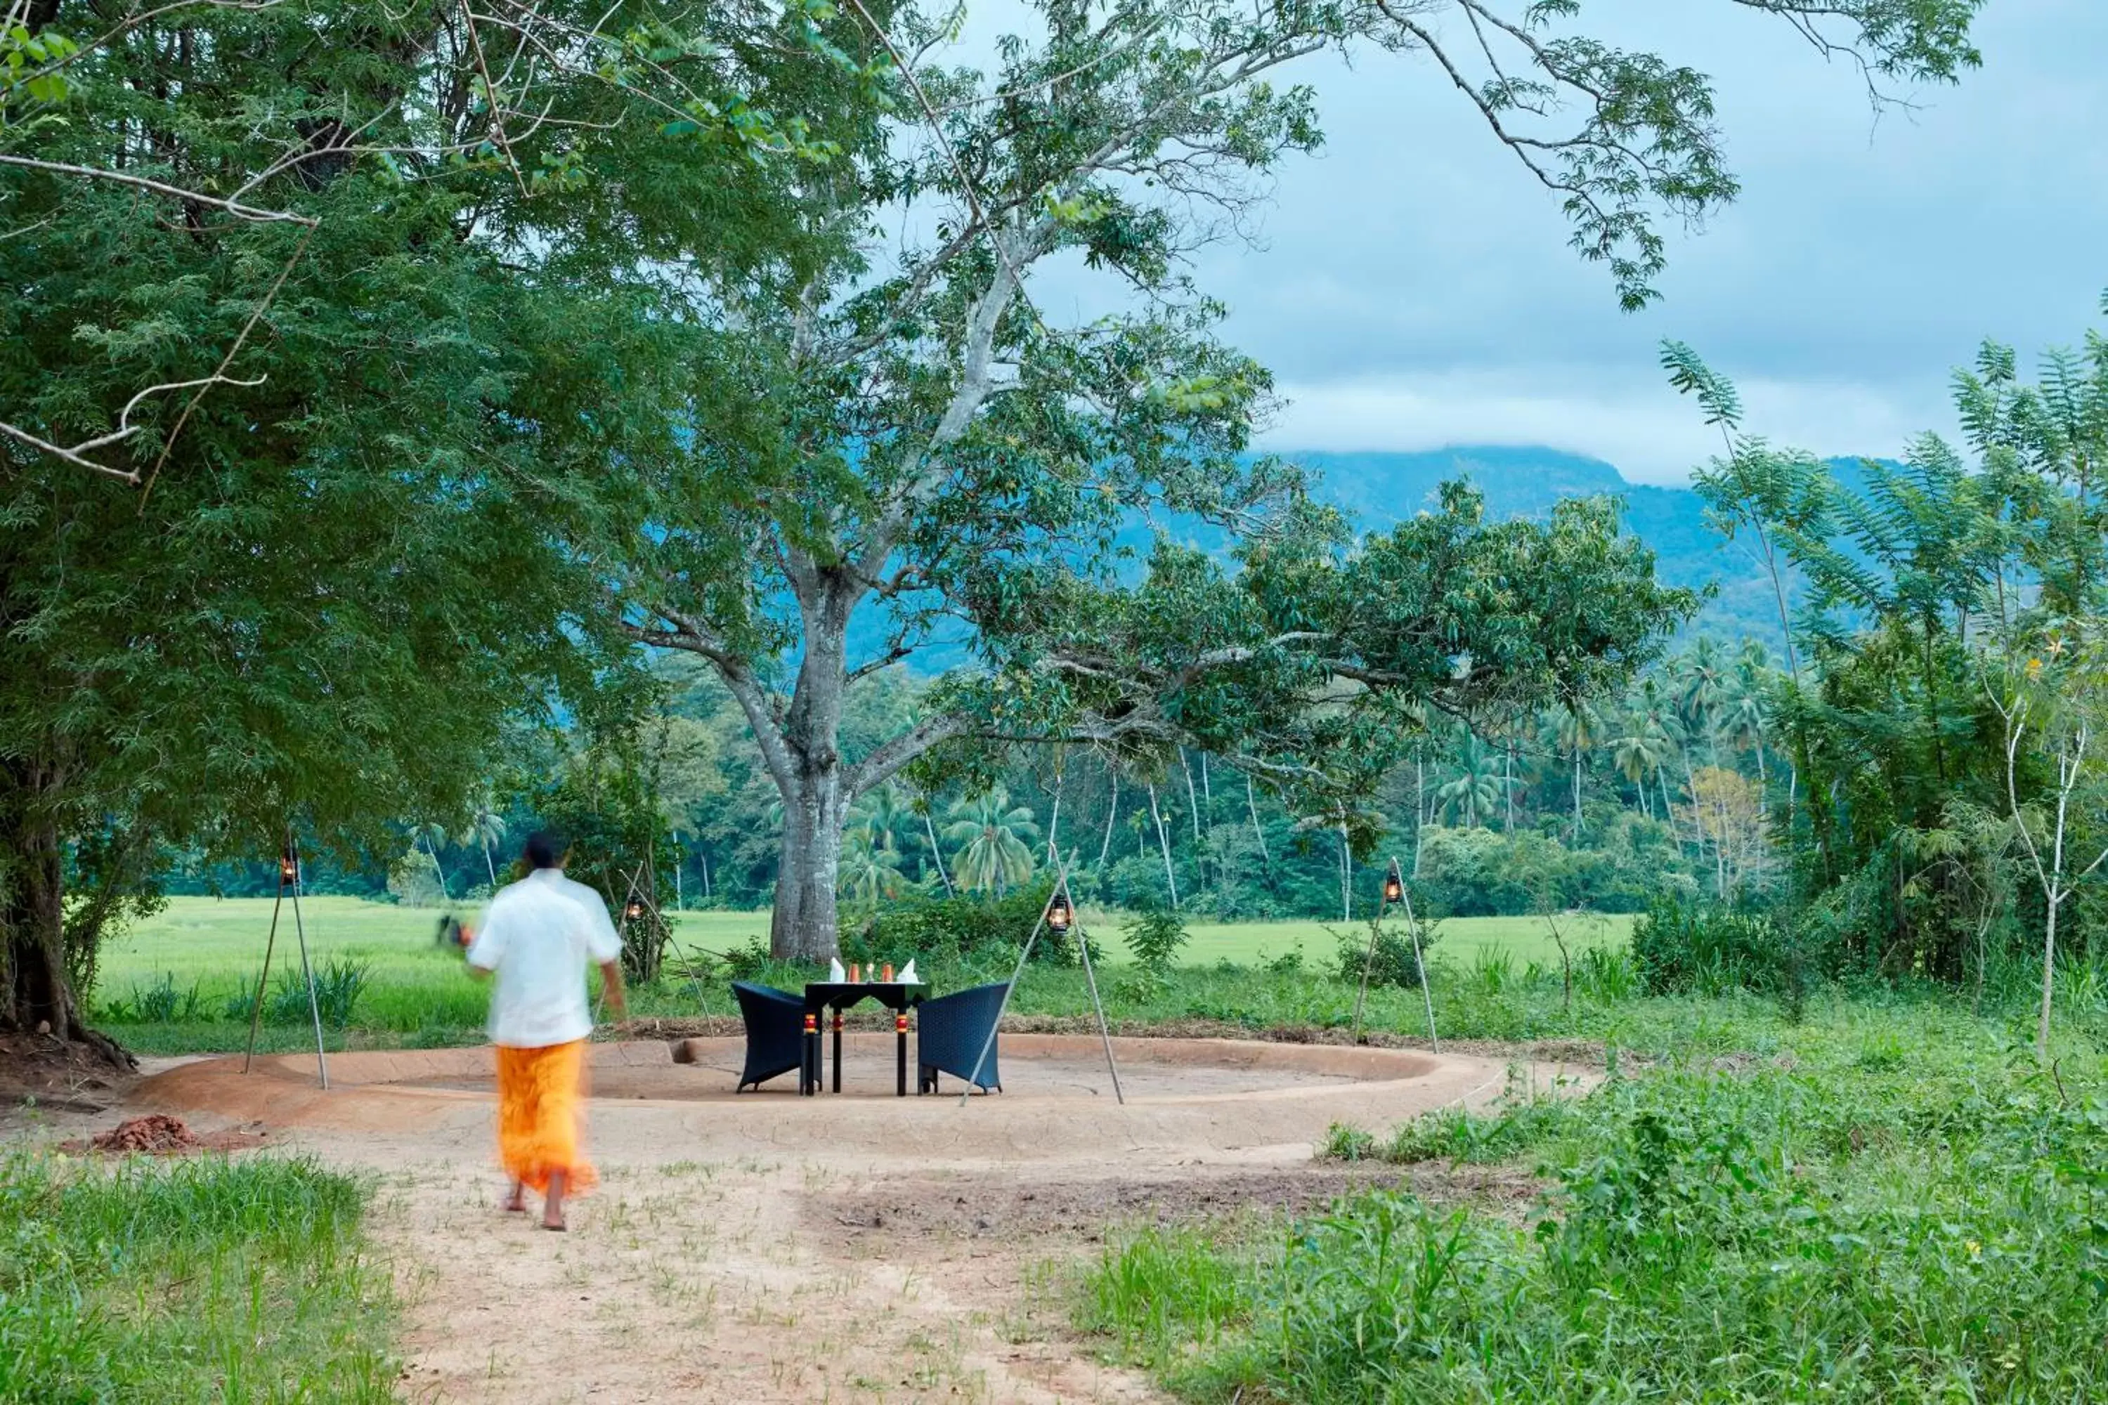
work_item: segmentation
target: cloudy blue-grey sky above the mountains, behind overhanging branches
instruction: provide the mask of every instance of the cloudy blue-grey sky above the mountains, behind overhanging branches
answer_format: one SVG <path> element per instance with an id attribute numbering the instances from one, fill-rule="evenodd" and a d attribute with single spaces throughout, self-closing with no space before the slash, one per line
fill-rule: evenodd
<path id="1" fill-rule="evenodd" d="M 1412 55 L 1313 63 L 1326 126 L 1261 249 L 1199 284 L 1292 396 L 1275 449 L 1551 444 L 1638 482 L 1718 438 L 1657 367 L 1731 373 L 1750 428 L 1826 455 L 1948 432 L 1948 371 L 2100 324 L 2108 286 L 2108 0 L 1990 0 L 1984 67 L 1874 120 L 1857 74 L 1726 0 L 1589 0 L 1596 34 L 1718 82 L 1741 200 L 1678 236 L 1663 301 L 1621 314 L 1556 202 Z"/>

